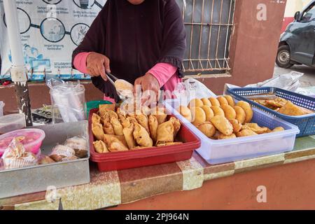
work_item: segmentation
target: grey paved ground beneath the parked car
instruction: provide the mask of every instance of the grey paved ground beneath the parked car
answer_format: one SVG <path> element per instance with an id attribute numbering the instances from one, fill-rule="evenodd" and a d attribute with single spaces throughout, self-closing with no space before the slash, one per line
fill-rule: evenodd
<path id="1" fill-rule="evenodd" d="M 281 69 L 279 66 L 274 66 L 274 76 L 279 76 L 290 71 L 298 71 L 304 73 L 300 79 L 301 87 L 315 86 L 315 68 L 304 65 L 294 65 L 290 69 Z"/>

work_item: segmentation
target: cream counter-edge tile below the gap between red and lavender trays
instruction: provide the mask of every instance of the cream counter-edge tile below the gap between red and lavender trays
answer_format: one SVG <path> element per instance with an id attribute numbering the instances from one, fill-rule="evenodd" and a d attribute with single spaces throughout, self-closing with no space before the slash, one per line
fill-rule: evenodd
<path id="1" fill-rule="evenodd" d="M 204 169 L 195 158 L 177 162 L 183 173 L 183 190 L 201 188 L 204 182 Z"/>

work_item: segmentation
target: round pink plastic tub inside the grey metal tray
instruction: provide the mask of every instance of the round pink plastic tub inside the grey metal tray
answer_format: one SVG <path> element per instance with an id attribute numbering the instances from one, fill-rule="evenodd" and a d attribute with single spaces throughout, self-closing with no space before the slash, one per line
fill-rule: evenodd
<path id="1" fill-rule="evenodd" d="M 45 139 L 45 132 L 39 129 L 24 129 L 2 134 L 0 136 L 0 156 L 6 151 L 13 138 L 20 139 L 25 150 L 36 155 L 41 149 L 43 139 Z"/>

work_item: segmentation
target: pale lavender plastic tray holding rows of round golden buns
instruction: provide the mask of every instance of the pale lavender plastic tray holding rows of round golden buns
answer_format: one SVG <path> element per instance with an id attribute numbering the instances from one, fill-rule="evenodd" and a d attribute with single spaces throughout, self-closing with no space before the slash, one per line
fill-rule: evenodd
<path id="1" fill-rule="evenodd" d="M 292 151 L 295 144 L 295 135 L 300 132 L 295 125 L 291 125 L 258 109 L 253 109 L 253 123 L 258 123 L 258 125 L 269 127 L 270 129 L 281 126 L 285 131 L 260 134 L 254 137 L 212 140 L 176 111 L 180 106 L 179 103 L 179 99 L 166 100 L 165 106 L 167 111 L 173 113 L 201 139 L 201 147 L 197 149 L 197 153 L 211 165 Z"/>

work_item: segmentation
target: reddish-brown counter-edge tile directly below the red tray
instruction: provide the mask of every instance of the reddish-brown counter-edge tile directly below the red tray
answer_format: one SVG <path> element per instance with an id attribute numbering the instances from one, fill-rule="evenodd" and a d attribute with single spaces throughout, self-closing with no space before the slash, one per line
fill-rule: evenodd
<path id="1" fill-rule="evenodd" d="M 183 174 L 176 163 L 125 169 L 118 175 L 122 203 L 183 189 Z"/>

